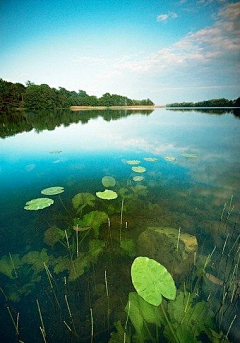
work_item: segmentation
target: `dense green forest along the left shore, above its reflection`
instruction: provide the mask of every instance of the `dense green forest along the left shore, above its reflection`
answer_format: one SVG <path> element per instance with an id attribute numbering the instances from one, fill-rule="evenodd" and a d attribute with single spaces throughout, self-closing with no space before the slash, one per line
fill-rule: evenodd
<path id="1" fill-rule="evenodd" d="M 100 98 L 85 91 L 68 91 L 63 87 L 51 88 L 46 84 L 35 85 L 27 81 L 12 83 L 0 79 L 0 110 L 26 108 L 31 110 L 55 110 L 70 106 L 135 106 L 154 105 L 150 99 L 132 100 L 126 96 L 105 93 Z"/>

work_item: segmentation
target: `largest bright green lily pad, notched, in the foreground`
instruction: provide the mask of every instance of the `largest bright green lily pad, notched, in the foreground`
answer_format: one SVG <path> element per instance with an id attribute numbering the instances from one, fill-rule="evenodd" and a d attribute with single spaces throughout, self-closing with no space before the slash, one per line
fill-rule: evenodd
<path id="1" fill-rule="evenodd" d="M 155 260 L 137 257 L 131 267 L 132 283 L 137 293 L 149 304 L 158 306 L 162 296 L 174 300 L 176 287 L 171 274 Z"/>

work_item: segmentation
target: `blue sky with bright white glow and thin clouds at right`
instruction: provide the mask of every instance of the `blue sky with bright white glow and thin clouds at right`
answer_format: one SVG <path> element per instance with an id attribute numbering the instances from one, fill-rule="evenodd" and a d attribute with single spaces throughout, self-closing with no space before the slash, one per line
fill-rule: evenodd
<path id="1" fill-rule="evenodd" d="M 1 0 L 0 77 L 157 105 L 240 96 L 240 1 Z"/>

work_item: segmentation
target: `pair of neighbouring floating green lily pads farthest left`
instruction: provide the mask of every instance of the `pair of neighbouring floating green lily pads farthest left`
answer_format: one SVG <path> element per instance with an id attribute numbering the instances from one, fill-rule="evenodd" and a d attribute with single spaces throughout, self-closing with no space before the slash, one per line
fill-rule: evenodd
<path id="1" fill-rule="evenodd" d="M 64 188 L 61 186 L 48 187 L 41 191 L 43 195 L 57 195 L 64 192 Z M 28 211 L 38 211 L 46 207 L 51 206 L 54 200 L 51 198 L 36 198 L 26 202 L 24 206 L 25 210 Z"/>

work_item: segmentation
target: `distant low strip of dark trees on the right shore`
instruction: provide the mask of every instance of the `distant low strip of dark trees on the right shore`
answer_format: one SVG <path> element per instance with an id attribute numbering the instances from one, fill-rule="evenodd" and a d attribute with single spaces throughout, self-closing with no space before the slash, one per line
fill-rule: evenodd
<path id="1" fill-rule="evenodd" d="M 211 99 L 199 102 L 175 102 L 166 107 L 240 107 L 240 97 L 236 100 Z"/>

